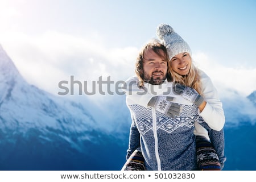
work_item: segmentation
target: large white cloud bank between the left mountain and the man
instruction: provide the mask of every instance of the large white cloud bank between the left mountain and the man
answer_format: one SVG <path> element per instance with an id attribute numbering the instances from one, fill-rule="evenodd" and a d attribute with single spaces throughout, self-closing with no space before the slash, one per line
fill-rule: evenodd
<path id="1" fill-rule="evenodd" d="M 95 34 L 81 38 L 56 31 L 48 31 L 42 35 L 5 32 L 0 34 L 0 39 L 3 49 L 14 61 L 21 75 L 30 84 L 55 95 L 63 91 L 59 88 L 59 82 L 68 81 L 71 84 L 71 76 L 82 83 L 82 89 L 86 86 L 90 91 L 93 81 L 96 81 L 96 90 L 98 89 L 97 81 L 100 77 L 102 80 L 110 77 L 115 84 L 135 74 L 138 48 L 108 48 Z M 87 81 L 86 85 L 84 81 Z M 115 91 L 114 84 L 111 85 L 112 92 Z M 118 126 L 121 128 L 123 123 L 129 123 L 125 96 L 108 96 L 108 93 L 107 96 L 85 96 L 84 93 L 80 96 L 78 85 L 74 85 L 75 96 L 66 97 L 84 104 L 106 130 L 111 132 Z M 66 86 L 71 90 L 71 85 Z M 103 89 L 106 91 L 106 86 Z M 122 112 L 117 112 L 121 108 Z"/>

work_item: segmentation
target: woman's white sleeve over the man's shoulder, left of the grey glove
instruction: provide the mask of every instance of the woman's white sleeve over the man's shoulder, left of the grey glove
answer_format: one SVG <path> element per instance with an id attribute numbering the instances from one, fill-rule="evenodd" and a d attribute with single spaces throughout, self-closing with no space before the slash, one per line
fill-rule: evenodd
<path id="1" fill-rule="evenodd" d="M 139 80 L 137 76 L 130 77 L 123 85 L 123 91 L 126 94 L 126 101 L 128 105 L 138 104 L 143 107 L 148 107 L 148 102 L 153 97 L 147 92 L 145 88 L 139 88 Z"/>

